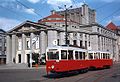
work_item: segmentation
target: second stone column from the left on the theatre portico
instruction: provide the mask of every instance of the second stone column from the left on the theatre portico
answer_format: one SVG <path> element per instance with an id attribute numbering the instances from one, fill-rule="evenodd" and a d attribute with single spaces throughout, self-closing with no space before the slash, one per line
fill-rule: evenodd
<path id="1" fill-rule="evenodd" d="M 16 35 L 12 35 L 12 61 L 15 63 L 16 58 Z"/>

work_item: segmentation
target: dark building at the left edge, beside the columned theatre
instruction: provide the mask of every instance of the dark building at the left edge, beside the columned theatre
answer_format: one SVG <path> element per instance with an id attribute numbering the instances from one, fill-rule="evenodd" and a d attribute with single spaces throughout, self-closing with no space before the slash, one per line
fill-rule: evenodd
<path id="1" fill-rule="evenodd" d="M 6 39 L 5 31 L 0 29 L 0 64 L 6 63 Z"/>

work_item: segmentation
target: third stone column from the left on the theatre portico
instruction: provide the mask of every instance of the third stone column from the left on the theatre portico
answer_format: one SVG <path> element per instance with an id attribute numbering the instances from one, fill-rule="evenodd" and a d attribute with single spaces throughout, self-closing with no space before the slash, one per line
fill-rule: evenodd
<path id="1" fill-rule="evenodd" d="M 21 56 L 22 56 L 22 60 L 21 60 L 21 62 L 22 63 L 25 63 L 25 50 L 26 50 L 26 35 L 25 34 L 22 34 L 22 54 L 21 54 Z"/>

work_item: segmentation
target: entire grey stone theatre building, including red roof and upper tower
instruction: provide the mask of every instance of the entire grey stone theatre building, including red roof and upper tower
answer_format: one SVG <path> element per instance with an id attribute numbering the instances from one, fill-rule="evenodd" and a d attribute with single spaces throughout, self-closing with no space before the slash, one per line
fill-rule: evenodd
<path id="1" fill-rule="evenodd" d="M 76 11 L 79 16 L 76 15 Z M 33 61 L 33 53 L 41 57 L 48 46 L 65 45 L 63 13 L 64 11 L 52 12 L 38 23 L 25 21 L 11 29 L 6 36 L 7 64 L 28 64 Z M 84 4 L 80 8 L 69 10 L 68 14 L 67 31 L 70 45 L 87 50 L 109 51 L 114 61 L 120 60 L 119 35 L 95 23 L 95 10 Z"/>

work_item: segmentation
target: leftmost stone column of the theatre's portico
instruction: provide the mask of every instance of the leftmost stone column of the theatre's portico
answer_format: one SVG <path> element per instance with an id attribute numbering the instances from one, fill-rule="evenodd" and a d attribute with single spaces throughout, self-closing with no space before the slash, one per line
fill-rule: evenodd
<path id="1" fill-rule="evenodd" d="M 6 37 L 6 63 L 9 64 L 9 63 L 12 63 L 12 53 L 11 53 L 11 39 L 10 39 L 10 36 L 7 35 Z"/>

